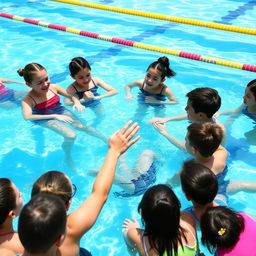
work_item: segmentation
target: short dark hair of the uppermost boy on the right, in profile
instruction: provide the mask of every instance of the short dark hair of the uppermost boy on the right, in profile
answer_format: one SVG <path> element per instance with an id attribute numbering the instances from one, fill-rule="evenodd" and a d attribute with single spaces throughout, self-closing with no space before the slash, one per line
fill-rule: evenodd
<path id="1" fill-rule="evenodd" d="M 196 88 L 186 95 L 196 113 L 202 112 L 211 118 L 221 106 L 221 98 L 215 89 Z"/>

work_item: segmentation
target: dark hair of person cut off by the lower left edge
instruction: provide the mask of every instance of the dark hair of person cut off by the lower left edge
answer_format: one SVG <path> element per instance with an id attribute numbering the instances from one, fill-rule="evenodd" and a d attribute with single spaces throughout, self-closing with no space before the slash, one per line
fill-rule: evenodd
<path id="1" fill-rule="evenodd" d="M 0 227 L 5 222 L 9 212 L 16 207 L 16 195 L 12 182 L 7 178 L 0 178 Z"/>

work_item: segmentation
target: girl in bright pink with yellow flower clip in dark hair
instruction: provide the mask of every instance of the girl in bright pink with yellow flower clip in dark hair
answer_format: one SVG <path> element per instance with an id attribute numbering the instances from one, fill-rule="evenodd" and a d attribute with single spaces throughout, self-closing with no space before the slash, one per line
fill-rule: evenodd
<path id="1" fill-rule="evenodd" d="M 208 208 L 200 220 L 202 243 L 217 256 L 255 256 L 256 220 L 225 206 Z"/>

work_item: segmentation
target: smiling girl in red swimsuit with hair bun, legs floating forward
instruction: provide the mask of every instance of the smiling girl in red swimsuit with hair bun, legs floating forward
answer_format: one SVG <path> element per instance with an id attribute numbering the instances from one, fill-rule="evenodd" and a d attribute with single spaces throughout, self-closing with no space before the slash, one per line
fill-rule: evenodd
<path id="1" fill-rule="evenodd" d="M 61 105 L 58 94 L 69 98 L 71 96 L 59 85 L 51 84 L 47 71 L 42 65 L 30 63 L 24 69 L 19 69 L 18 73 L 24 77 L 26 85 L 31 88 L 22 100 L 24 118 L 64 137 L 62 148 L 65 160 L 69 168 L 75 170 L 71 149 L 76 139 L 76 133 L 67 124 L 106 143 L 105 136 L 96 129 L 83 124 L 72 112 Z M 75 97 L 72 97 L 72 100 L 79 108 L 80 102 Z"/>

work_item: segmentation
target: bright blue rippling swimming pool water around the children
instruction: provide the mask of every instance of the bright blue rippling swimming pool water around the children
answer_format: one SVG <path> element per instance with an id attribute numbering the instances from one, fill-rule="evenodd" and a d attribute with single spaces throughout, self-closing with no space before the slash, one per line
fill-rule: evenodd
<path id="1" fill-rule="evenodd" d="M 157 3 L 118 0 L 94 2 L 251 28 L 255 24 L 253 12 L 256 1 L 215 0 L 203 4 L 199 0 L 193 3 L 183 0 L 172 2 L 171 5 L 166 0 Z M 255 36 L 114 14 L 45 0 L 4 1 L 0 5 L 0 12 L 146 44 L 255 64 Z M 69 61 L 76 56 L 85 57 L 91 64 L 94 76 L 104 79 L 119 90 L 117 96 L 102 100 L 108 112 L 97 128 L 107 136 L 129 120 L 136 110 L 136 101 L 124 101 L 124 86 L 143 78 L 148 65 L 165 55 L 4 18 L 0 18 L 0 33 L 1 77 L 18 79 L 18 68 L 29 62 L 38 62 L 46 67 L 52 82 L 66 88 L 72 81 L 67 70 Z M 183 113 L 185 94 L 201 86 L 213 87 L 219 91 L 222 97 L 221 110 L 235 108 L 242 101 L 245 85 L 255 78 L 255 73 L 248 71 L 167 56 L 172 68 L 177 72 L 177 76 L 168 80 L 167 84 L 180 102 L 178 105 L 167 107 L 168 116 Z M 21 85 L 12 87 L 16 90 L 23 89 Z M 132 93 L 136 95 L 137 91 L 133 90 Z M 86 122 L 93 122 L 94 116 L 89 110 L 79 115 Z M 30 197 L 30 185 L 38 176 L 50 169 L 65 171 L 78 187 L 71 210 L 76 208 L 91 191 L 94 179 L 87 175 L 87 171 L 100 166 L 107 148 L 104 145 L 98 146 L 98 141 L 94 138 L 78 133 L 73 149 L 78 171 L 70 172 L 62 163 L 61 137 L 24 121 L 19 108 L 2 110 L 0 116 L 1 176 L 10 177 L 23 191 L 24 201 L 27 202 Z M 155 132 L 152 126 L 147 125 L 146 121 L 151 117 L 153 112 L 148 113 L 141 123 L 142 138 L 128 151 L 127 161 L 132 166 L 144 149 L 156 151 L 166 159 L 164 166 L 157 173 L 157 183 L 160 183 L 178 171 L 182 161 L 188 156 L 180 153 Z M 220 120 L 225 121 L 226 117 L 221 117 Z M 175 129 L 177 126 L 179 129 Z M 183 139 L 186 126 L 187 122 L 168 123 L 168 130 Z M 243 116 L 232 127 L 227 144 L 230 151 L 228 176 L 232 179 L 256 181 L 256 147 L 247 145 L 243 135 L 252 127 L 251 121 Z M 112 192 L 119 190 L 116 186 L 112 188 Z M 188 202 L 180 189 L 175 191 L 181 199 L 182 207 L 186 207 Z M 112 192 L 96 225 L 81 243 L 91 250 L 93 255 L 128 255 L 123 243 L 121 225 L 126 217 L 139 219 L 136 209 L 140 197 L 117 199 Z M 230 197 L 230 205 L 236 210 L 256 216 L 255 200 L 256 194 L 240 192 Z"/>

